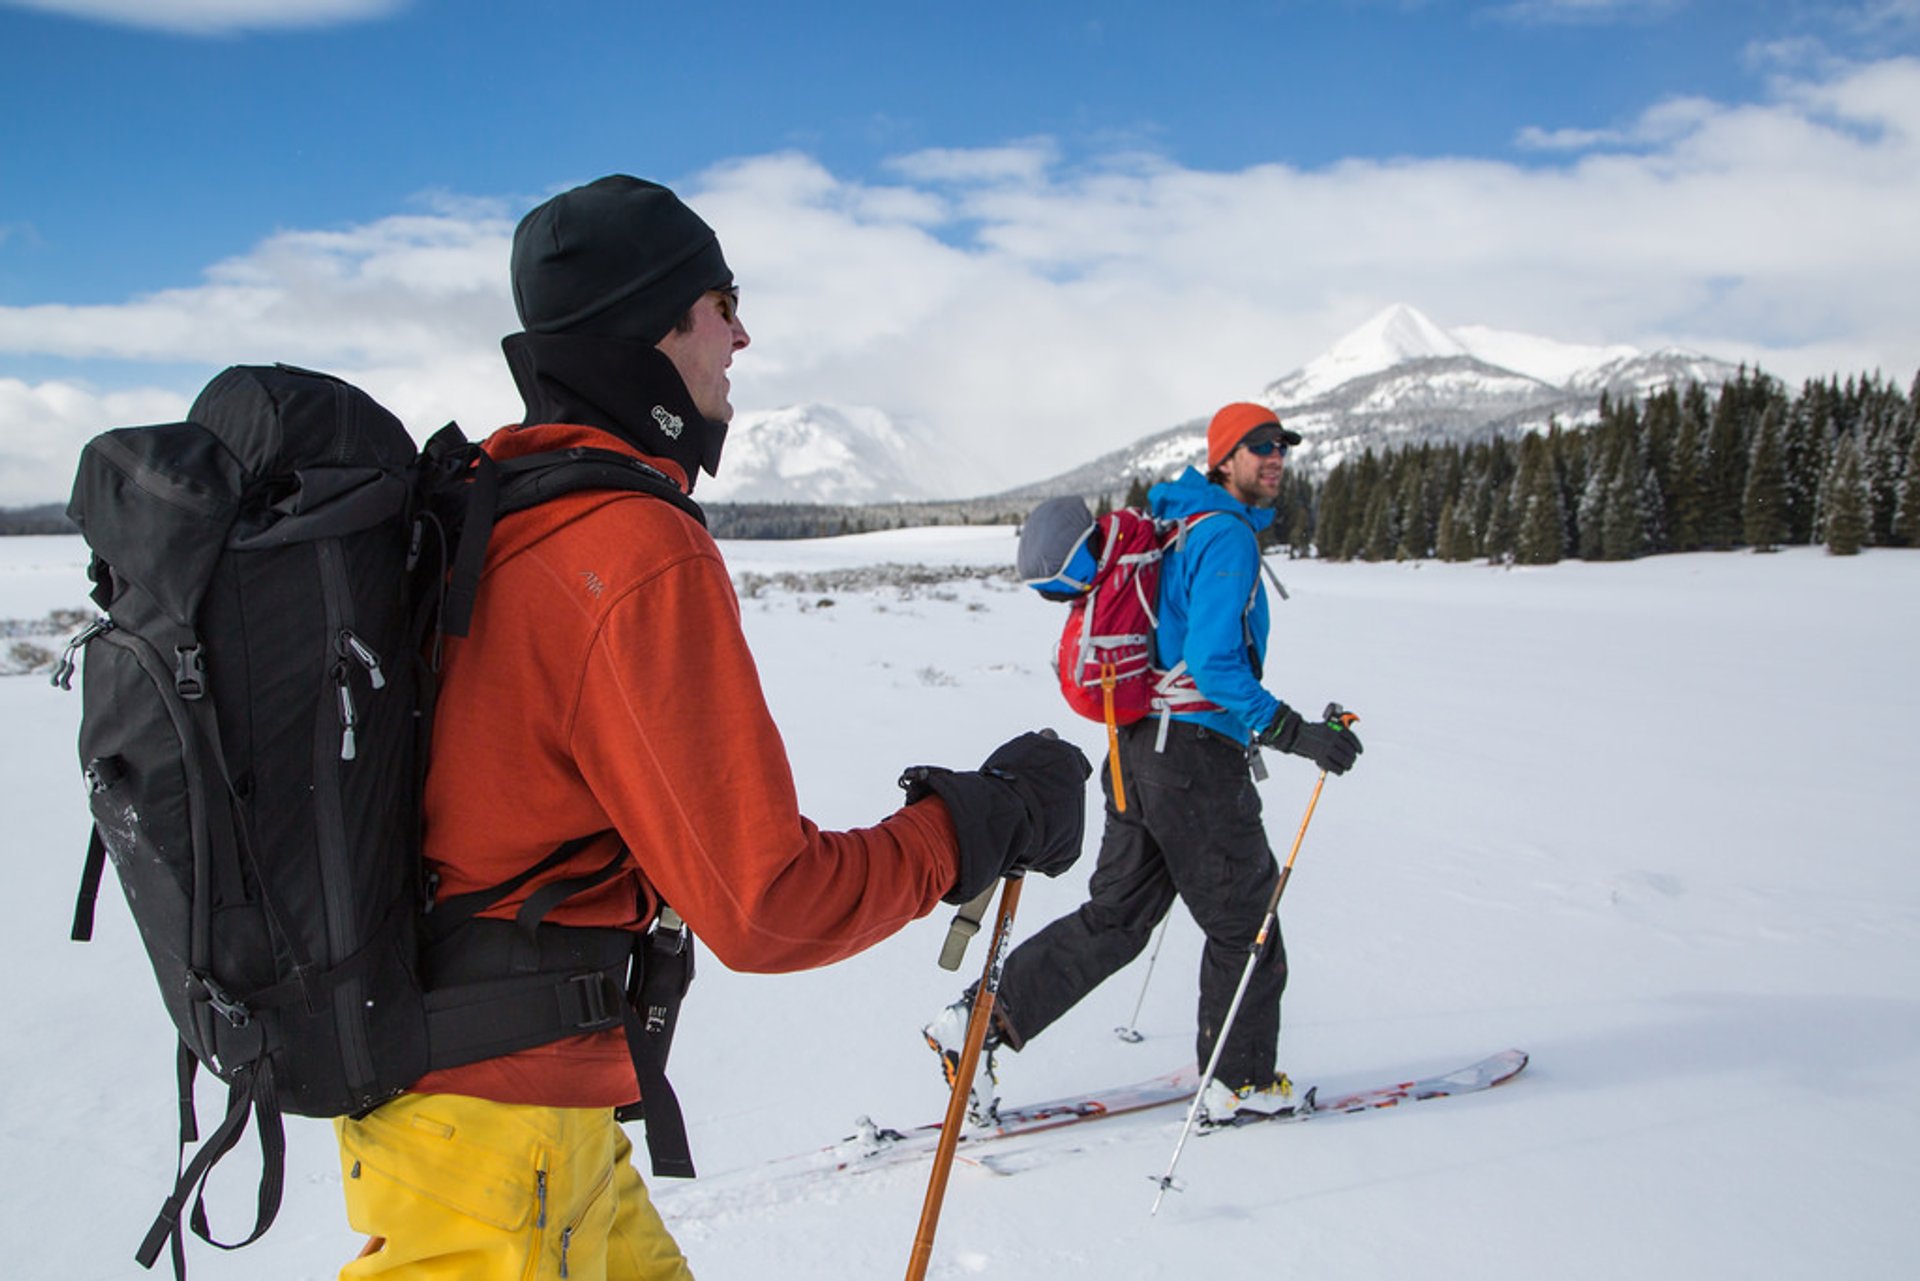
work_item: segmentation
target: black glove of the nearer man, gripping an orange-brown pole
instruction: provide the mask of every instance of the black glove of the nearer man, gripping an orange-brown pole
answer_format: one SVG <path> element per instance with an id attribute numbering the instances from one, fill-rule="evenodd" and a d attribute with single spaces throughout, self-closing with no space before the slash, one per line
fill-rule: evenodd
<path id="1" fill-rule="evenodd" d="M 1021 734 L 975 772 L 916 764 L 900 774 L 906 803 L 937 795 L 960 834 L 960 878 L 947 903 L 968 903 L 1002 876 L 1060 876 L 1079 858 L 1092 766 L 1052 732 Z"/>

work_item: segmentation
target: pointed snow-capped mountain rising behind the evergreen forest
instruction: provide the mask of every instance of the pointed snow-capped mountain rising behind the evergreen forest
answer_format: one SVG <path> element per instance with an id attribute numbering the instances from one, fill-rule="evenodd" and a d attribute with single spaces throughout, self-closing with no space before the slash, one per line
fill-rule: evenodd
<path id="1" fill-rule="evenodd" d="M 1252 396 L 1306 436 L 1302 465 L 1323 472 L 1367 447 L 1523 436 L 1557 421 L 1594 423 L 1599 396 L 1644 398 L 1690 380 L 1715 388 L 1734 365 L 1663 348 L 1582 346 L 1486 326 L 1442 328 L 1405 303 L 1386 307 L 1298 371 Z M 1206 419 L 1154 432 L 1016 495 L 1119 494 L 1206 453 Z"/>

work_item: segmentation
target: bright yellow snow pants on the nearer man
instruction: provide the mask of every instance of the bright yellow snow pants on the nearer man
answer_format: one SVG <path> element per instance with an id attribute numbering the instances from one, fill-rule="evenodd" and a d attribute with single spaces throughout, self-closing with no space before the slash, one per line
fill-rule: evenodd
<path id="1" fill-rule="evenodd" d="M 401 1095 L 334 1122 L 348 1223 L 340 1281 L 691 1281 L 612 1108 Z"/>

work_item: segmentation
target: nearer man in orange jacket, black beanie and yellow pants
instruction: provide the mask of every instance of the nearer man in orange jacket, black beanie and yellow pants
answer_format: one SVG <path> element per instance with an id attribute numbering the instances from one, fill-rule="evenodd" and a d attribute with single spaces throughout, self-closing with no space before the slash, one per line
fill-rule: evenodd
<path id="1" fill-rule="evenodd" d="M 526 215 L 513 240 L 524 332 L 505 340 L 526 421 L 497 459 L 632 455 L 691 494 L 733 415 L 747 342 L 712 229 L 664 186 L 607 177 Z M 505 517 L 467 640 L 449 641 L 426 780 L 438 901 L 559 858 L 486 908 L 645 931 L 670 905 L 732 970 L 858 953 L 939 901 L 1079 855 L 1081 753 L 1023 734 L 977 772 L 914 770 L 877 826 L 799 809 L 739 605 L 699 519 L 593 490 Z M 570 893 L 568 893 L 570 891 Z M 342 1277 L 689 1277 L 614 1110 L 639 1093 L 620 1029 L 438 1070 L 338 1122 Z"/>

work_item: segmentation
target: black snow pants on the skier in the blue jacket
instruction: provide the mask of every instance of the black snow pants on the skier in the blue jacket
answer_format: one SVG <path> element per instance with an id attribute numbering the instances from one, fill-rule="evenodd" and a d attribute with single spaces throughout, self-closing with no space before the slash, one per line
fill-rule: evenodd
<path id="1" fill-rule="evenodd" d="M 1179 895 L 1206 933 L 1194 1062 L 1204 1068 L 1213 1052 L 1279 864 L 1260 822 L 1260 793 L 1246 751 L 1181 720 L 1167 728 L 1165 751 L 1154 751 L 1158 732 L 1156 718 L 1119 730 L 1125 812 L 1114 809 L 1110 770 L 1100 770 L 1106 832 L 1087 903 L 1006 958 L 995 1022 L 1008 1049 L 1018 1051 L 1041 1035 L 1139 956 Z M 1284 989 L 1286 947 L 1275 928 L 1213 1072 L 1223 1083 L 1273 1079 Z"/>

